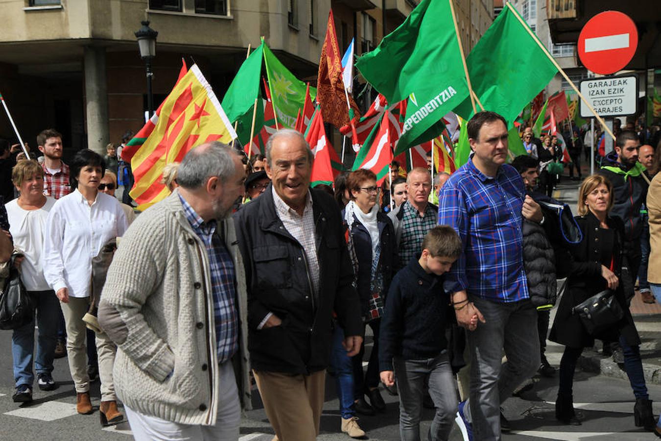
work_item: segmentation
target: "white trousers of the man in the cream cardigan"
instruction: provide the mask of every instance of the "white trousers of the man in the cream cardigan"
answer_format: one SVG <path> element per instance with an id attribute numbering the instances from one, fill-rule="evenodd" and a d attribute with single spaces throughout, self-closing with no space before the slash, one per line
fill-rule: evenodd
<path id="1" fill-rule="evenodd" d="M 231 361 L 221 364 L 218 368 L 221 387 L 217 392 L 220 401 L 215 426 L 178 424 L 144 415 L 124 405 L 136 441 L 237 441 L 241 404 L 234 368 Z"/>

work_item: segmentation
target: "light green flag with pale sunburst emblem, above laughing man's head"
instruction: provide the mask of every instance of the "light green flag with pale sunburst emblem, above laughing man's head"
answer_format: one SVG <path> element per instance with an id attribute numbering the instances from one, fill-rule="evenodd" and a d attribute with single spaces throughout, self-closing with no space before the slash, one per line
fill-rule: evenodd
<path id="1" fill-rule="evenodd" d="M 271 90 L 271 102 L 276 112 L 278 126 L 293 128 L 298 110 L 303 111 L 305 104 L 305 83 L 293 76 L 284 64 L 264 45 L 264 65 Z M 315 99 L 317 89 L 310 87 L 310 98 Z"/>

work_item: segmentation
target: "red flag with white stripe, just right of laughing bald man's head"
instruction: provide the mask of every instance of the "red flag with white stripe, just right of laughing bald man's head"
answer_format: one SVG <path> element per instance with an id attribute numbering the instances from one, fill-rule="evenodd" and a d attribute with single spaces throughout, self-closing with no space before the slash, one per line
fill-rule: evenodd
<path id="1" fill-rule="evenodd" d="M 312 122 L 305 134 L 305 141 L 310 145 L 315 155 L 315 160 L 312 163 L 310 185 L 313 187 L 319 184 L 332 185 L 335 177 L 340 173 L 340 170 L 334 167 L 334 165 L 340 163 L 340 158 L 332 147 L 331 141 L 326 137 L 324 120 L 319 109 L 315 110 Z"/>

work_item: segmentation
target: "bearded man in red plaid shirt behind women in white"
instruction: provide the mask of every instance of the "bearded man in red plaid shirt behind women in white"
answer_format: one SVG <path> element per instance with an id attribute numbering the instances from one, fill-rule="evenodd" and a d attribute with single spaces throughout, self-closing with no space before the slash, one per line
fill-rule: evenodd
<path id="1" fill-rule="evenodd" d="M 71 193 L 69 167 L 62 161 L 62 136 L 46 129 L 37 135 L 39 151 L 44 153 L 44 194 L 59 199 Z"/>

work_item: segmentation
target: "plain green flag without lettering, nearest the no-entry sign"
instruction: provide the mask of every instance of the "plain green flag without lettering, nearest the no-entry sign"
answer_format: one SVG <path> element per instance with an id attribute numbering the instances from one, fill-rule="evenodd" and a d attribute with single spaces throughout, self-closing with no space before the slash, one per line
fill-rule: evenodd
<path id="1" fill-rule="evenodd" d="M 466 59 L 473 91 L 485 110 L 504 116 L 508 128 L 525 104 L 558 73 L 528 29 L 518 13 L 504 7 Z M 473 116 L 470 97 L 455 113 Z"/>

